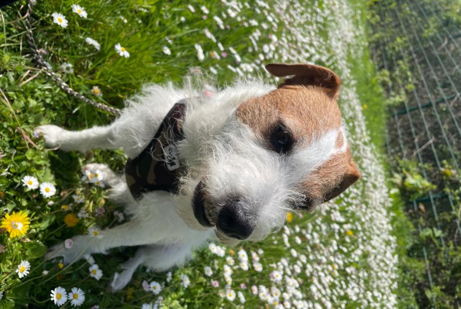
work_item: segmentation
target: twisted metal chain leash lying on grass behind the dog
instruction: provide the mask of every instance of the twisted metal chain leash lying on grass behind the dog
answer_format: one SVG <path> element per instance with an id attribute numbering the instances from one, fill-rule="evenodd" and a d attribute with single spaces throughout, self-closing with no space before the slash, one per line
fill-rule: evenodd
<path id="1" fill-rule="evenodd" d="M 86 96 L 79 94 L 78 92 L 73 90 L 71 87 L 69 87 L 69 85 L 65 83 L 62 80 L 62 78 L 59 77 L 58 74 L 53 72 L 53 70 L 47 66 L 47 64 L 45 63 L 45 60 L 40 54 L 39 49 L 37 48 L 37 45 L 35 44 L 35 39 L 32 33 L 32 26 L 30 24 L 31 14 L 32 14 L 31 0 L 27 0 L 27 11 L 25 15 L 25 28 L 26 28 L 25 35 L 27 37 L 27 43 L 29 44 L 29 47 L 32 49 L 32 55 L 35 61 L 37 61 L 38 67 L 40 68 L 40 70 L 45 72 L 45 74 L 47 74 L 52 80 L 54 80 L 56 84 L 58 84 L 58 86 L 61 87 L 61 89 L 64 90 L 67 94 L 73 95 L 77 99 L 82 100 L 87 104 L 93 105 L 100 110 L 115 114 L 116 116 L 119 116 L 120 109 L 106 105 L 104 103 L 95 102 L 92 99 L 89 99 Z"/>

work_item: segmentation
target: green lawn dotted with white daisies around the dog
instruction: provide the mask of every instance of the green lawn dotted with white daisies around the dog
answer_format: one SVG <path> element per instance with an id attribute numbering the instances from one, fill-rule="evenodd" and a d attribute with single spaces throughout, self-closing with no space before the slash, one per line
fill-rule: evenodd
<path id="1" fill-rule="evenodd" d="M 88 261 L 64 267 L 59 259 L 44 261 L 47 247 L 59 241 L 94 225 L 119 224 L 114 212 L 122 207 L 105 200 L 102 188 L 82 182 L 80 170 L 92 162 L 121 170 L 125 158 L 121 152 L 46 149 L 34 137 L 40 124 L 79 130 L 107 124 L 114 115 L 67 95 L 34 66 L 20 1 L 0 11 L 0 207 L 1 218 L 27 214 L 30 228 L 18 238 L 0 234 L 1 308 L 56 308 L 50 293 L 58 286 L 80 288 L 82 308 L 398 306 L 394 214 L 379 150 L 384 119 L 375 116 L 382 100 L 366 51 L 365 1 L 75 2 L 86 18 L 72 11 L 74 2 L 37 2 L 32 26 L 49 66 L 76 91 L 118 108 L 148 82 L 181 84 L 200 74 L 217 87 L 243 77 L 276 84 L 264 64 L 332 68 L 342 78 L 340 108 L 363 179 L 313 214 L 287 216 L 286 226 L 262 242 L 228 248 L 211 240 L 184 267 L 168 273 L 140 268 L 116 293 L 107 286 L 133 248 L 95 255 L 99 280 L 90 276 Z M 54 12 L 65 16 L 67 27 L 53 23 Z M 100 48 L 86 43 L 88 37 Z M 119 55 L 117 44 L 129 57 Z M 27 175 L 52 184 L 56 193 L 27 189 Z M 21 261 L 30 263 L 22 278 L 16 272 Z M 160 288 L 153 292 L 151 283 Z M 72 306 L 68 301 L 61 308 Z"/>

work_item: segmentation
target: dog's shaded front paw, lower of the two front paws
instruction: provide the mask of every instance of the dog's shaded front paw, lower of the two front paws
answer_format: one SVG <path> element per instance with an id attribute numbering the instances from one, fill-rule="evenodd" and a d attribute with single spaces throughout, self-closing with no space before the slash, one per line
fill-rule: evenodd
<path id="1" fill-rule="evenodd" d="M 66 241 L 58 243 L 49 248 L 45 255 L 45 260 L 51 260 L 57 257 L 63 257 L 64 265 L 78 261 L 83 258 L 84 254 L 89 253 L 90 239 L 85 235 L 79 235 L 72 239 L 72 245 Z"/>

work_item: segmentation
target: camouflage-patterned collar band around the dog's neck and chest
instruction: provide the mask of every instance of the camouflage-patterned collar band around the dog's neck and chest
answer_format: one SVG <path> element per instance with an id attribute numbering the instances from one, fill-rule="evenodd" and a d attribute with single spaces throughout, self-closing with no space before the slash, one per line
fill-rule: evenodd
<path id="1" fill-rule="evenodd" d="M 136 158 L 126 162 L 126 184 L 135 199 L 153 190 L 177 192 L 178 175 L 183 168 L 175 144 L 184 139 L 182 124 L 187 100 L 173 105 L 152 141 Z"/>

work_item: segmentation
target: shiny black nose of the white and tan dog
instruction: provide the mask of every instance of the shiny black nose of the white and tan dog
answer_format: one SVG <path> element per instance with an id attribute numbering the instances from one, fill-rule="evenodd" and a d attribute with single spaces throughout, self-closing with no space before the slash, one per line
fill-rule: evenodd
<path id="1" fill-rule="evenodd" d="M 248 238 L 253 232 L 253 226 L 238 201 L 232 201 L 221 209 L 217 226 L 227 236 L 240 240 Z"/>

